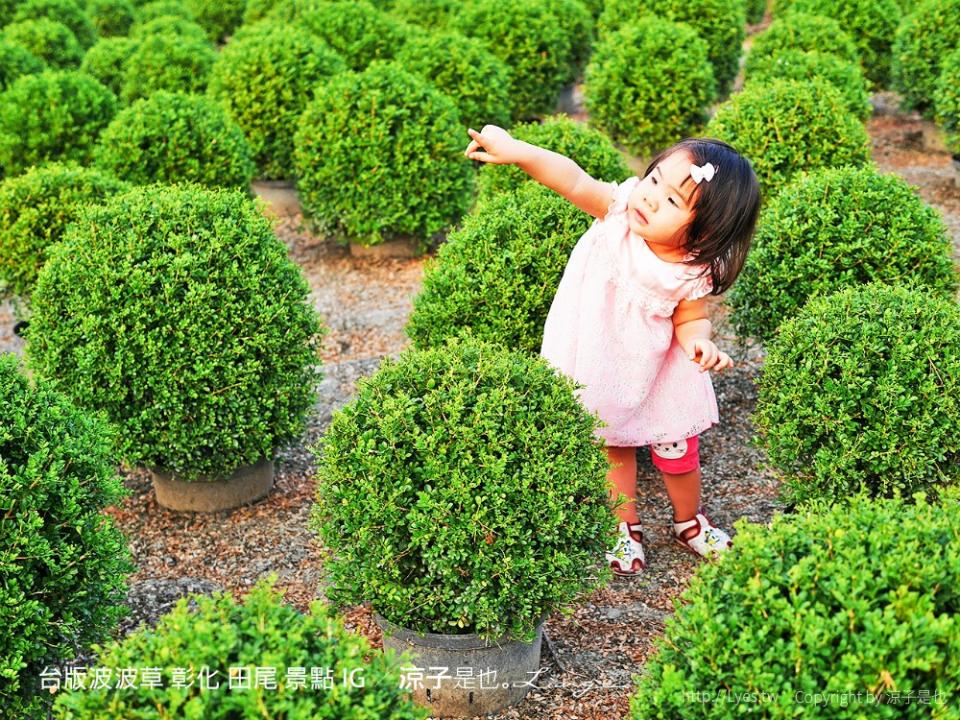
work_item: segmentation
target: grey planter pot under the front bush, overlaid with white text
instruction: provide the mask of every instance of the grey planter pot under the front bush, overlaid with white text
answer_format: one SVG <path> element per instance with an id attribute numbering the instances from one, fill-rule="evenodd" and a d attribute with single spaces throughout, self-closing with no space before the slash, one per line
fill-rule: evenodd
<path id="1" fill-rule="evenodd" d="M 415 658 L 417 669 L 411 672 L 407 666 L 405 684 L 413 690 L 414 700 L 434 717 L 499 712 L 523 700 L 537 679 L 546 617 L 532 643 L 507 637 L 485 642 L 472 634 L 418 633 L 376 612 L 373 617 L 383 630 L 384 650 L 392 648 Z"/>

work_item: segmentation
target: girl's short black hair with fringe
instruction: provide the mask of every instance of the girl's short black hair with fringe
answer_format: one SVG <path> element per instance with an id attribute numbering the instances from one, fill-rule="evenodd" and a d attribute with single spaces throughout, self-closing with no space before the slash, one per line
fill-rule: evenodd
<path id="1" fill-rule="evenodd" d="M 711 163 L 716 174 L 697 186 L 693 221 L 684 228 L 687 262 L 709 266 L 713 295 L 733 285 L 750 250 L 760 213 L 760 184 L 749 161 L 730 145 L 711 138 L 687 138 L 655 157 L 644 177 L 675 152 L 685 150 L 701 167 Z M 704 273 L 706 274 L 706 273 Z"/>

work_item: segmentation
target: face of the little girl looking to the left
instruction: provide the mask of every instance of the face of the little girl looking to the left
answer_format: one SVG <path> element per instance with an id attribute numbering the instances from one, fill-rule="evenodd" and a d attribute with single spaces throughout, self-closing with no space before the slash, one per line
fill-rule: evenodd
<path id="1" fill-rule="evenodd" d="M 685 150 L 667 156 L 627 198 L 630 231 L 668 254 L 673 250 L 678 259 L 685 229 L 693 221 L 697 184 L 690 177 L 692 162 Z"/>

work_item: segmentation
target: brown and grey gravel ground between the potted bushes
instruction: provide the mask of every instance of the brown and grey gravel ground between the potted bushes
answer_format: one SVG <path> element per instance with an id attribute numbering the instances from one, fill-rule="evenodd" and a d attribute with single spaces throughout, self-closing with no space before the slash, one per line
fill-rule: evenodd
<path id="1" fill-rule="evenodd" d="M 889 94 L 875 98 L 877 112 L 869 122 L 874 159 L 919 188 L 944 214 L 960 248 L 956 170 L 949 155 L 931 145 L 932 126 L 897 112 L 894 103 Z M 321 548 L 307 530 L 315 470 L 309 448 L 332 412 L 349 401 L 356 380 L 407 344 L 403 325 L 420 287 L 424 259 L 354 258 L 345 248 L 299 229 L 297 217 L 280 221 L 277 232 L 304 268 L 311 297 L 330 328 L 323 352 L 325 379 L 307 432 L 279 454 L 275 490 L 253 506 L 230 512 L 164 510 L 145 473 L 124 472 L 131 494 L 107 512 L 130 538 L 139 569 L 130 578 L 131 614 L 117 636 L 155 622 L 187 592 L 225 588 L 239 597 L 270 573 L 279 576 L 278 586 L 297 607 L 306 609 L 318 597 Z M 738 518 L 766 522 L 780 506 L 777 482 L 764 469 L 762 453 L 750 444 L 749 415 L 762 348 L 736 338 L 726 311 L 722 300 L 714 299 L 716 335 L 736 365 L 714 376 L 722 424 L 704 434 L 701 452 L 704 505 L 717 524 L 732 529 Z M 0 305 L 0 351 L 20 353 L 23 344 L 12 333 L 13 319 L 10 306 Z M 618 578 L 582 598 L 570 617 L 550 617 L 539 687 L 517 706 L 490 717 L 611 720 L 627 715 L 633 677 L 700 562 L 671 543 L 669 500 L 647 453 L 640 453 L 638 465 L 638 510 L 645 523 L 649 568 L 640 577 Z M 368 607 L 349 609 L 345 619 L 349 628 L 380 646 Z"/>

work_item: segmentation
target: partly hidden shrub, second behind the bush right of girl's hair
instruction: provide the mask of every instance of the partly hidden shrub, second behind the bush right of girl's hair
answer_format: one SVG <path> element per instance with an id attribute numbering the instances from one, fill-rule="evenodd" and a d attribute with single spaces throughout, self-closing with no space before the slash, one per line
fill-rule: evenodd
<path id="1" fill-rule="evenodd" d="M 753 72 L 763 58 L 779 55 L 784 50 L 816 50 L 837 55 L 860 64 L 860 53 L 853 38 L 832 17 L 787 13 L 753 37 L 744 70 Z"/>

